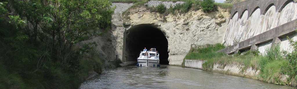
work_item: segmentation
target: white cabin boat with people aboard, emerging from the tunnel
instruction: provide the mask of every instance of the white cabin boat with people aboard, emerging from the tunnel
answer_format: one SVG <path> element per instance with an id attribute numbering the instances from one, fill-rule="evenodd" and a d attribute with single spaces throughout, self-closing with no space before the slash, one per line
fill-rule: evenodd
<path id="1" fill-rule="evenodd" d="M 160 67 L 159 53 L 156 52 L 155 48 L 151 48 L 149 51 L 140 51 L 137 66 Z"/>

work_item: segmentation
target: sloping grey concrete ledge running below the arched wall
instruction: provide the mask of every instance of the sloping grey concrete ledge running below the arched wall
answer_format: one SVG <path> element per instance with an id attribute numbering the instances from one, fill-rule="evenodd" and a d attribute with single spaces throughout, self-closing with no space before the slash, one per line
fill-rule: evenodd
<path id="1" fill-rule="evenodd" d="M 223 52 L 225 54 L 231 54 L 235 52 L 236 50 L 249 50 L 252 45 L 259 45 L 261 43 L 272 41 L 273 39 L 276 39 L 277 37 L 282 38 L 286 37 L 290 34 L 295 33 L 295 30 L 297 29 L 297 19 L 287 22 L 279 27 L 270 29 L 266 32 L 263 32 L 261 34 L 258 34 L 254 37 L 251 37 L 249 39 L 246 39 L 242 42 L 239 42 L 238 44 L 231 45 L 229 47 L 226 47 L 225 49 L 222 49 L 218 52 Z M 273 43 L 275 44 L 275 43 Z"/>

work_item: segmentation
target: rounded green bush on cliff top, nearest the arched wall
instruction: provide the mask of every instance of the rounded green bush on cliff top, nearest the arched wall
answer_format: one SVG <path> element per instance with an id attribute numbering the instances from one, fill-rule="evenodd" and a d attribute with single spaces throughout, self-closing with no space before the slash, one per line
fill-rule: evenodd
<path id="1" fill-rule="evenodd" d="M 201 2 L 201 7 L 204 12 L 209 12 L 214 10 L 214 0 L 203 0 Z"/>

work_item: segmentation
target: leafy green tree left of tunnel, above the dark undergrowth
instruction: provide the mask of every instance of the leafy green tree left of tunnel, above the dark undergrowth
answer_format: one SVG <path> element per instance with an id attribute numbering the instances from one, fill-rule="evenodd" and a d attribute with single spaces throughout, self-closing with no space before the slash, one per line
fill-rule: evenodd
<path id="1" fill-rule="evenodd" d="M 31 42 L 50 44 L 52 57 L 66 63 L 72 45 L 110 29 L 113 8 L 108 0 L 10 0 Z"/>

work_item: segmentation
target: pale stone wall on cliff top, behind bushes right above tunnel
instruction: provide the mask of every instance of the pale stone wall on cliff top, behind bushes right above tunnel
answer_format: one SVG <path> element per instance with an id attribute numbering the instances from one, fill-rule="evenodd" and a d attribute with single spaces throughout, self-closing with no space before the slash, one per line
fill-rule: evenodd
<path id="1" fill-rule="evenodd" d="M 147 5 L 149 7 L 156 7 L 158 6 L 159 4 L 163 4 L 166 6 L 167 9 L 170 8 L 170 6 L 175 6 L 176 4 L 183 4 L 184 2 L 182 1 L 177 1 L 177 2 L 163 2 L 163 1 L 149 1 L 148 3 L 144 4 L 144 5 Z"/>

